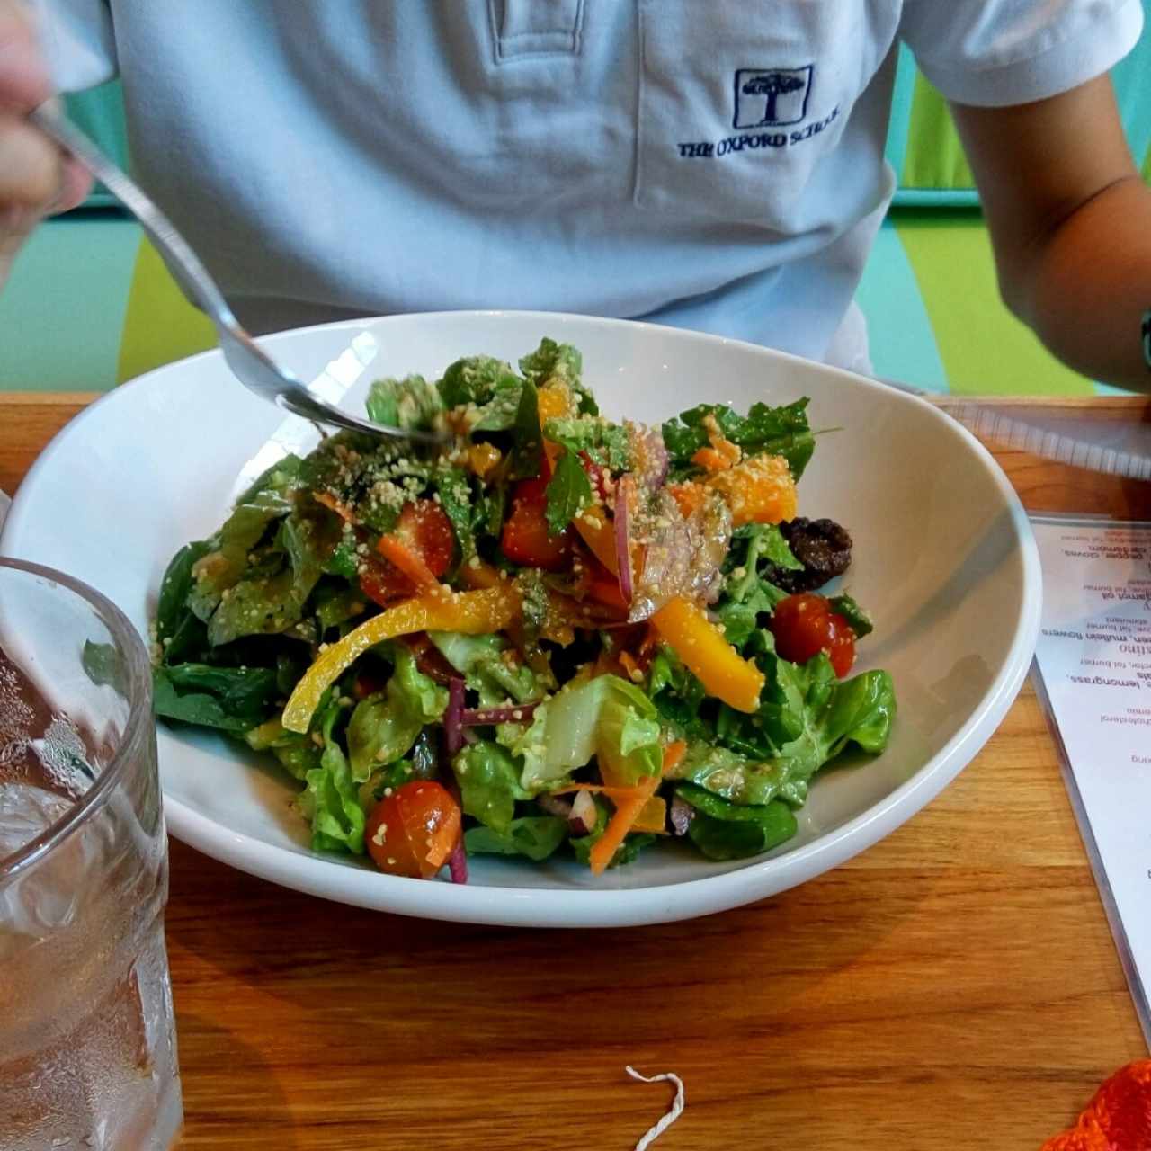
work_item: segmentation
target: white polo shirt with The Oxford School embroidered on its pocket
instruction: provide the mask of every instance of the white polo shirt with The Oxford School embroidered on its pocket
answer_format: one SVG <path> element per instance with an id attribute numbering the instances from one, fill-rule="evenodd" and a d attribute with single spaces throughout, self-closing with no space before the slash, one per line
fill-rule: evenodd
<path id="1" fill-rule="evenodd" d="M 1112 67 L 1139 0 L 35 0 L 258 330 L 642 317 L 847 366 L 900 38 L 946 97 Z M 845 320 L 846 317 L 846 320 Z"/>

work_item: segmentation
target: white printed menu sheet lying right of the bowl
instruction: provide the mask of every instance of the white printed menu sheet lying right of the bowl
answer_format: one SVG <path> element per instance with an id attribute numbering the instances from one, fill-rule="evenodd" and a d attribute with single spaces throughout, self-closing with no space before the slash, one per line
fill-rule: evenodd
<path id="1" fill-rule="evenodd" d="M 1041 699 L 1151 1046 L 1151 524 L 1034 517 Z"/>

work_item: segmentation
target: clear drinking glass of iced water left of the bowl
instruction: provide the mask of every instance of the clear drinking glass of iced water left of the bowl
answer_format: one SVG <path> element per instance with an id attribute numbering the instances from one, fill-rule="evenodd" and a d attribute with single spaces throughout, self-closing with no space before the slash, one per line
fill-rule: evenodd
<path id="1" fill-rule="evenodd" d="M 167 897 L 144 645 L 0 558 L 0 1151 L 171 1145 Z"/>

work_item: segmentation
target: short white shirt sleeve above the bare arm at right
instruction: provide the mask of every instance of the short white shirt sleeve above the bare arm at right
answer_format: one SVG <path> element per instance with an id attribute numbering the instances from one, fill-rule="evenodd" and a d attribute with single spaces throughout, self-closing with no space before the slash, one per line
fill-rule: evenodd
<path id="1" fill-rule="evenodd" d="M 956 104 L 1028 104 L 1103 75 L 1135 46 L 1141 0 L 907 0 L 900 33 Z"/>

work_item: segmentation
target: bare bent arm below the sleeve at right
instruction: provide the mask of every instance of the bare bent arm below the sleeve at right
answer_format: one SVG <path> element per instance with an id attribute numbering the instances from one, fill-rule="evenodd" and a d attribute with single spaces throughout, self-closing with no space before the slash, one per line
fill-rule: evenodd
<path id="1" fill-rule="evenodd" d="M 1035 104 L 952 105 L 980 188 L 1007 306 L 1060 359 L 1151 390 L 1151 189 L 1107 76 Z"/>

